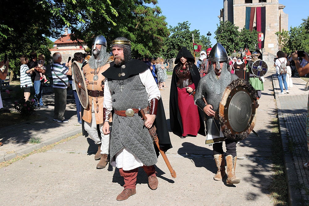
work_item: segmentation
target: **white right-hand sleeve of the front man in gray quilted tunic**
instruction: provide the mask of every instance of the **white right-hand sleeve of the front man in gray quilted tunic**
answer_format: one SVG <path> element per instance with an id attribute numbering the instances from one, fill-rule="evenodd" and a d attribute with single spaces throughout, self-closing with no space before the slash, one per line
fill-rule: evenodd
<path id="1" fill-rule="evenodd" d="M 146 92 L 148 94 L 148 102 L 150 103 L 151 99 L 160 99 L 161 94 L 158 88 L 158 85 L 155 82 L 154 77 L 151 74 L 151 71 L 147 69 L 146 71 L 139 74 L 139 78 L 143 86 L 145 86 Z M 105 89 L 104 89 L 104 100 L 105 100 Z"/>

